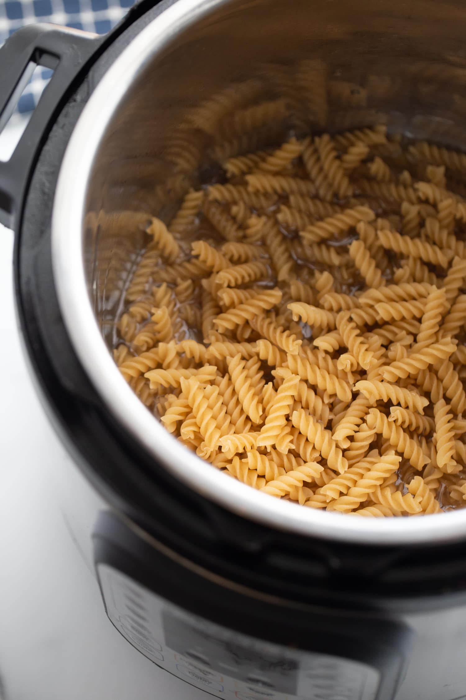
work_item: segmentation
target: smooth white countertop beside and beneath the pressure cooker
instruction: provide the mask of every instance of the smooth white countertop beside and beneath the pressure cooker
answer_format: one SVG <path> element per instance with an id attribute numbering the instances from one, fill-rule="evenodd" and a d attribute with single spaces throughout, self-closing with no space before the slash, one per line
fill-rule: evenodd
<path id="1" fill-rule="evenodd" d="M 19 129 L 1 135 L 0 158 Z M 29 377 L 12 262 L 13 232 L 0 225 L 0 700 L 2 688 L 8 700 L 201 700 L 203 693 L 131 647 L 105 615 L 92 563 L 57 498 L 65 490 L 85 510 L 90 489 Z"/>

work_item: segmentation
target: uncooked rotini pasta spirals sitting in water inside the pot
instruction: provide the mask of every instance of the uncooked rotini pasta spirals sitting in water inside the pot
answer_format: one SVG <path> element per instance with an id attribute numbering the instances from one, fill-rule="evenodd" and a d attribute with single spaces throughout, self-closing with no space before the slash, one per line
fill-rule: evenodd
<path id="1" fill-rule="evenodd" d="M 268 496 L 361 517 L 466 505 L 466 156 L 384 126 L 267 148 L 254 109 L 196 113 L 224 134 L 223 175 L 152 217 L 120 372 Z"/>

